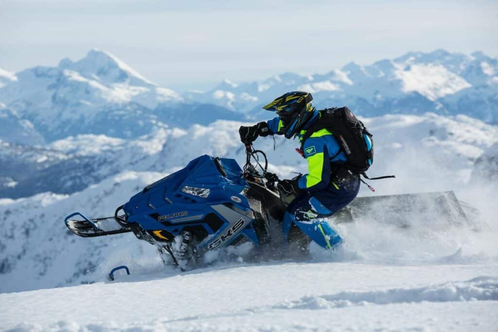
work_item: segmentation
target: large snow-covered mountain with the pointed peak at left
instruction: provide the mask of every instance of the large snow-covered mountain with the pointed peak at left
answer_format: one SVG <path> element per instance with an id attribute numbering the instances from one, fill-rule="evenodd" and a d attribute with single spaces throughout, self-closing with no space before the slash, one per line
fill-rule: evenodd
<path id="1" fill-rule="evenodd" d="M 63 59 L 57 67 L 1 71 L 0 79 L 0 102 L 30 121 L 47 141 L 78 134 L 134 138 L 159 127 L 189 126 L 191 121 L 240 119 L 219 106 L 185 103 L 173 90 L 155 85 L 97 49 L 76 62 Z M 15 135 L 10 141 L 26 143 Z"/>

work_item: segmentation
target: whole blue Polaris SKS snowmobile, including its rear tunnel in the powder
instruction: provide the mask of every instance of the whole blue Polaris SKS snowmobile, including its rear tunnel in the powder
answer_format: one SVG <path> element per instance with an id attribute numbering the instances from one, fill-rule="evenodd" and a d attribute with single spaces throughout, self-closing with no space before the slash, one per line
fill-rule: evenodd
<path id="1" fill-rule="evenodd" d="M 88 219 L 77 212 L 66 217 L 66 226 L 82 237 L 133 232 L 155 245 L 165 264 L 182 270 L 198 266 L 208 251 L 231 251 L 248 242 L 258 257 L 268 253 L 276 259 L 282 258 L 276 255 L 306 256 L 311 239 L 296 225 L 282 243 L 281 221 L 289 202 L 278 192 L 278 177 L 267 171 L 265 153 L 253 150 L 252 145 L 246 153 L 243 169 L 234 159 L 198 157 L 146 186 L 118 207 L 114 217 Z M 475 217 L 478 212 L 458 201 L 453 192 L 435 192 L 357 197 L 333 220 L 356 222 L 368 216 L 379 224 L 401 228 L 423 220 L 430 227 L 439 222 L 479 231 L 479 225 L 467 218 L 469 213 Z M 435 214 L 443 219 L 436 221 Z"/>

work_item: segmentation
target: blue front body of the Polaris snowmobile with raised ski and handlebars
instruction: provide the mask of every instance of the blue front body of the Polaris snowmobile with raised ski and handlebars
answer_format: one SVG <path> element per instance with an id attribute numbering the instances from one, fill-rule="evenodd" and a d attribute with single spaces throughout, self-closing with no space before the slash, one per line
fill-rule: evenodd
<path id="1" fill-rule="evenodd" d="M 244 169 L 234 159 L 203 155 L 146 186 L 114 217 L 88 219 L 77 212 L 65 224 L 82 237 L 133 232 L 155 245 L 165 264 L 181 269 L 195 267 L 210 250 L 246 242 L 268 247 L 286 205 L 276 187 L 278 177 L 267 171 L 265 153 L 252 145 L 246 152 Z M 293 227 L 289 241 L 303 245 L 307 240 Z"/>

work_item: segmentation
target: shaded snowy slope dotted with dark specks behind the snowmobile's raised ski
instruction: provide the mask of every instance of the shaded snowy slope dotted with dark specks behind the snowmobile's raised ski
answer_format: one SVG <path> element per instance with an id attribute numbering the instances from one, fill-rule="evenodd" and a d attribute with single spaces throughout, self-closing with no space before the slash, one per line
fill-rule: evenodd
<path id="1" fill-rule="evenodd" d="M 0 200 L 2 291 L 90 281 L 93 277 L 86 275 L 96 264 L 110 259 L 117 243 L 124 247 L 132 243 L 132 251 L 140 253 L 140 247 L 147 244 L 137 243 L 132 234 L 84 241 L 73 236 L 63 221 L 76 210 L 88 215 L 112 215 L 127 201 L 129 193 L 159 177 L 156 173 L 126 172 L 69 197 L 44 193 L 29 199 Z"/>

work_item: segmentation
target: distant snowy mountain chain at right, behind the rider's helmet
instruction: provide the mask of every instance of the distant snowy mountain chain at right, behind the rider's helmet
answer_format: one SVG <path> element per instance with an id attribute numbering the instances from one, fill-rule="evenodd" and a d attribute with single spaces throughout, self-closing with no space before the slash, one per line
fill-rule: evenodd
<path id="1" fill-rule="evenodd" d="M 260 118 L 265 116 L 260 106 L 290 90 L 311 92 L 319 108 L 348 105 L 364 116 L 432 111 L 498 121 L 498 59 L 482 52 L 409 52 L 371 65 L 351 62 L 326 74 L 285 73 L 240 84 L 225 80 L 183 97 Z"/>

